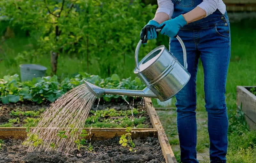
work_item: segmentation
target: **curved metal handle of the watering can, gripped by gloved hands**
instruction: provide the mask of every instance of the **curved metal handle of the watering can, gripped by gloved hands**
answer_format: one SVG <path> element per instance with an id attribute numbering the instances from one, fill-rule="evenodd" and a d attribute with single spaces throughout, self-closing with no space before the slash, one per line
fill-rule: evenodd
<path id="1" fill-rule="evenodd" d="M 156 32 L 159 32 L 160 30 L 161 29 L 156 29 Z M 184 68 L 187 70 L 188 69 L 188 63 L 187 63 L 187 52 L 186 52 L 185 45 L 184 45 L 183 41 L 180 39 L 180 37 L 178 35 L 176 35 L 175 37 L 180 42 L 180 45 L 182 47 L 183 59 L 184 59 Z M 146 36 L 144 38 L 146 38 Z M 138 70 L 140 70 L 140 68 L 139 68 L 139 61 L 138 61 L 138 55 L 139 55 L 139 50 L 140 50 L 141 42 L 142 42 L 142 40 L 139 41 L 139 43 L 137 44 L 136 50 L 135 50 L 135 63 L 136 63 L 136 68 Z"/>

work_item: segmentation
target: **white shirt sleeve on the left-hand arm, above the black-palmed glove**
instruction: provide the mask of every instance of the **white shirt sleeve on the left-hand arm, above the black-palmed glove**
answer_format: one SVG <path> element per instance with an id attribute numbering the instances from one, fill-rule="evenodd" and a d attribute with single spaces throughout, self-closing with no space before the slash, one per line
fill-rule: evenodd
<path id="1" fill-rule="evenodd" d="M 164 12 L 169 15 L 169 19 L 171 19 L 174 10 L 172 0 L 157 0 L 157 4 L 158 8 L 156 13 Z"/>

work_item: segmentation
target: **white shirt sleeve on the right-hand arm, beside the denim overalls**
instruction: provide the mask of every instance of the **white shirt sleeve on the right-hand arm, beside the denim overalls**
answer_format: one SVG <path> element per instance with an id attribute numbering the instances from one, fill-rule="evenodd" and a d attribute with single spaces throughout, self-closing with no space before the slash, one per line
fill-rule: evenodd
<path id="1" fill-rule="evenodd" d="M 206 16 L 211 15 L 218 8 L 219 0 L 204 0 L 201 4 L 197 6 L 206 12 Z"/>

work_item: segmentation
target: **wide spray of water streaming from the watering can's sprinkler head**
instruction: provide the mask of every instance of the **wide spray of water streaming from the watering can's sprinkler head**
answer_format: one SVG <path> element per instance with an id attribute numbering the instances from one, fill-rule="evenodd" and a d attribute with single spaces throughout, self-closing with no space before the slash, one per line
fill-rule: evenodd
<path id="1" fill-rule="evenodd" d="M 84 122 L 95 100 L 96 97 L 87 89 L 85 84 L 62 95 L 44 111 L 39 123 L 29 131 L 29 134 L 37 135 L 38 140 L 41 140 L 43 144 L 38 144 L 35 147 L 28 137 L 24 141 L 28 145 L 27 150 L 44 149 L 47 151 L 51 149 L 49 144 L 55 144 L 58 151 L 75 150 L 74 141 L 80 137 L 81 128 L 84 127 Z M 67 138 L 57 136 L 60 130 L 66 131 Z"/>

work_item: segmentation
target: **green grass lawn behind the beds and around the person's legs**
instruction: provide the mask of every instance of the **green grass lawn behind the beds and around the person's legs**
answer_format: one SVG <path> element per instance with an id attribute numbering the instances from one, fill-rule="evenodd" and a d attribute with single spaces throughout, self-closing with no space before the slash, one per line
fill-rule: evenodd
<path id="1" fill-rule="evenodd" d="M 246 130 L 246 126 L 241 123 L 236 125 L 233 122 L 240 122 L 234 119 L 236 111 L 236 86 L 256 85 L 256 23 L 255 21 L 245 21 L 237 24 L 231 23 L 231 59 L 228 69 L 226 102 L 229 116 L 228 134 L 228 162 L 229 163 L 252 163 L 256 162 L 256 132 Z M 1 26 L 0 26 L 1 27 Z M 48 68 L 46 75 L 50 75 L 50 54 L 49 56 L 27 57 L 19 56 L 23 50 L 36 48 L 36 39 L 19 38 L 9 39 L 0 44 L 0 78 L 4 75 L 14 73 L 19 74 L 19 64 L 33 62 L 44 65 Z M 165 46 L 168 43 L 165 43 Z M 2 50 L 1 50 L 2 49 Z M 116 73 L 121 78 L 135 77 L 133 74 L 134 59 L 127 59 L 124 70 L 117 70 Z M 74 56 L 60 55 L 58 60 L 57 75 L 60 78 L 72 76 L 79 71 L 86 71 L 85 59 Z M 76 65 L 76 66 L 74 66 Z M 106 77 L 104 72 L 100 72 L 97 62 L 92 62 L 90 73 Z M 200 162 L 209 162 L 209 137 L 207 131 L 207 114 L 204 108 L 204 72 L 201 62 L 197 73 L 197 151 Z M 153 100 L 155 102 L 155 100 Z M 174 106 L 175 98 L 172 100 Z M 164 126 L 169 142 L 179 161 L 179 139 L 176 126 L 176 112 L 157 111 Z"/>

